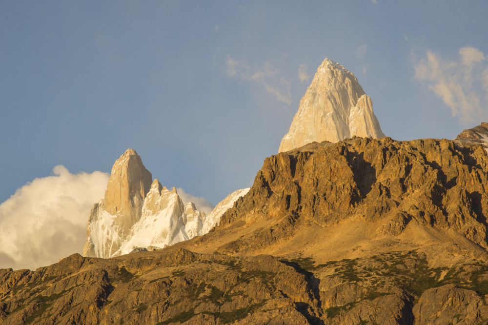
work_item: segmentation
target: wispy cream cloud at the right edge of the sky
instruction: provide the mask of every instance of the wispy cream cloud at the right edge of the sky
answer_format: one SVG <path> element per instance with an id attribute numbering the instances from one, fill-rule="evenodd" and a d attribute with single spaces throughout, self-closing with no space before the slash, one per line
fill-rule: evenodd
<path id="1" fill-rule="evenodd" d="M 415 78 L 426 81 L 461 122 L 488 118 L 488 64 L 480 50 L 463 47 L 456 60 L 427 50 L 425 57 L 415 62 Z"/>

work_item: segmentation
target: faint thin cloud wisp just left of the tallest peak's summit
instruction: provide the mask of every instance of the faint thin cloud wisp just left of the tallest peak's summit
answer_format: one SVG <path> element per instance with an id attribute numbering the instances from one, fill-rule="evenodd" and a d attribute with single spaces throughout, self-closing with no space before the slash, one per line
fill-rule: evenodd
<path id="1" fill-rule="evenodd" d="M 229 77 L 261 84 L 264 90 L 275 100 L 288 105 L 291 104 L 290 83 L 279 77 L 278 69 L 267 62 L 261 67 L 254 67 L 248 65 L 244 60 L 237 60 L 228 56 L 225 61 L 225 72 Z"/>

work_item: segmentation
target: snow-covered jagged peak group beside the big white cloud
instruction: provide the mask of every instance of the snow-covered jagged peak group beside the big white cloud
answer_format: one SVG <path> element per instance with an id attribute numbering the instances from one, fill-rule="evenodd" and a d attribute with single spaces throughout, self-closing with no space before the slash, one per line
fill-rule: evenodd
<path id="1" fill-rule="evenodd" d="M 203 235 L 245 191 L 233 194 L 207 219 L 194 203 L 184 205 L 174 187 L 169 191 L 157 179 L 153 182 L 136 151 L 128 149 L 112 167 L 105 195 L 90 213 L 83 255 L 109 258 Z"/>

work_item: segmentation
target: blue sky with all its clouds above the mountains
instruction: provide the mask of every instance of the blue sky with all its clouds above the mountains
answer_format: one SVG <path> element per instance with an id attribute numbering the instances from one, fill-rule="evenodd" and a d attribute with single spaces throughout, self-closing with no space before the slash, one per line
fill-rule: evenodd
<path id="1" fill-rule="evenodd" d="M 80 252 L 84 237 L 57 243 L 84 234 L 127 148 L 203 205 L 251 186 L 325 58 L 395 140 L 488 122 L 487 13 L 484 0 L 1 1 L 0 267 L 42 263 L 26 246 Z"/>

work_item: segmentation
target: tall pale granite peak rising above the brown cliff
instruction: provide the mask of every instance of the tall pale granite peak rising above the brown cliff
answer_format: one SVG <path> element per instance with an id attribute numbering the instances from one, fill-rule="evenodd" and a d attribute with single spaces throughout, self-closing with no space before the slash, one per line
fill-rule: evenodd
<path id="1" fill-rule="evenodd" d="M 352 136 L 382 138 L 371 98 L 354 75 L 325 59 L 300 101 L 278 152 L 310 142 L 338 142 Z"/>

